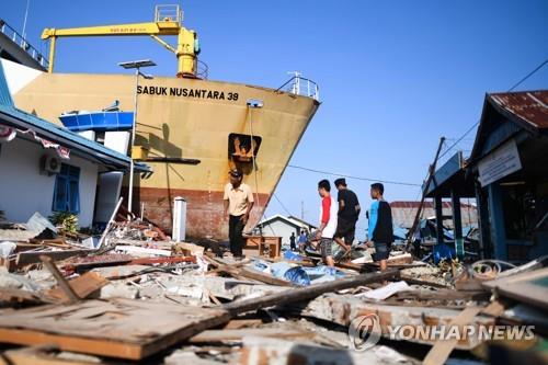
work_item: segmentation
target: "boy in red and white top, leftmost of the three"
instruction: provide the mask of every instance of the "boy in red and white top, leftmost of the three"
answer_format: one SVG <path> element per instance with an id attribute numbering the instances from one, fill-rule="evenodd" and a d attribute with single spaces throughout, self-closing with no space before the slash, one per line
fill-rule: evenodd
<path id="1" fill-rule="evenodd" d="M 331 196 L 331 185 L 328 180 L 322 180 L 318 183 L 318 194 L 321 197 L 320 208 L 320 228 L 316 232 L 316 238 L 319 240 L 321 256 L 326 264 L 334 266 L 333 256 L 331 254 L 331 244 L 333 235 L 336 229 L 336 212 L 338 205 Z"/>

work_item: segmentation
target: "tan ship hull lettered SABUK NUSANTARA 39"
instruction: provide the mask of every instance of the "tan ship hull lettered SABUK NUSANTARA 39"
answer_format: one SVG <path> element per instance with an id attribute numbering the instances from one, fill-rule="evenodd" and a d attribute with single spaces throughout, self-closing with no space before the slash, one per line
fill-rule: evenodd
<path id="1" fill-rule="evenodd" d="M 64 112 L 99 111 L 114 100 L 133 111 L 137 91 L 136 145 L 149 150 L 146 162 L 155 173 L 136 179 L 133 210 L 142 205 L 145 216 L 169 232 L 173 198 L 182 196 L 194 238 L 226 239 L 222 191 L 233 167 L 259 198 L 246 229 L 254 227 L 319 106 L 311 98 L 239 83 L 155 78 L 139 80 L 136 89 L 130 75 L 9 69 L 18 107 L 57 124 Z M 248 150 L 256 148 L 254 163 L 249 152 L 235 157 L 235 136 L 249 139 Z M 161 159 L 170 162 L 156 162 Z"/>

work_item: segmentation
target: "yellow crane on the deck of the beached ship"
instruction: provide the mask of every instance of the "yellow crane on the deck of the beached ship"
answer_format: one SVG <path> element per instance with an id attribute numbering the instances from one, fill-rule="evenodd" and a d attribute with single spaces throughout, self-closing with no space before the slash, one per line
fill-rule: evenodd
<path id="1" fill-rule="evenodd" d="M 148 35 L 175 54 L 178 59 L 178 77 L 197 77 L 197 55 L 199 44 L 196 32 L 181 25 L 183 13 L 179 5 L 157 5 L 155 21 L 149 23 L 115 24 L 101 26 L 84 26 L 71 28 L 45 28 L 42 39 L 49 39 L 49 68 L 54 71 L 55 46 L 58 37 L 82 36 L 123 36 Z M 176 48 L 172 47 L 161 35 L 176 35 Z"/>

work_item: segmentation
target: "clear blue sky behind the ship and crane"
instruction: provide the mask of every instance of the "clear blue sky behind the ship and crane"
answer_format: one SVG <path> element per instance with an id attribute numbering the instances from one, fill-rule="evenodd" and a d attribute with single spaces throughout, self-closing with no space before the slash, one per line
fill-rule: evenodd
<path id="1" fill-rule="evenodd" d="M 22 30 L 26 0 L 0 14 Z M 44 27 L 150 21 L 155 1 L 31 0 L 27 38 Z M 209 78 L 277 88 L 299 70 L 320 85 L 322 105 L 290 163 L 379 180 L 421 183 L 439 137 L 447 145 L 480 116 L 486 92 L 505 91 L 548 58 L 548 1 L 206 1 L 182 3 L 201 37 Z M 174 39 L 171 39 L 174 43 Z M 119 72 L 121 60 L 174 57 L 147 37 L 60 39 L 56 69 Z M 547 89 L 548 67 L 517 90 Z M 471 148 L 475 133 L 459 144 Z M 452 153 L 447 153 L 449 157 Z M 276 196 L 316 221 L 321 174 L 287 169 Z M 331 181 L 334 176 L 328 176 Z M 347 180 L 362 205 L 369 183 Z M 386 198 L 418 187 L 386 185 Z M 273 199 L 267 215 L 285 213 Z M 363 239 L 365 219 L 358 224 Z"/>

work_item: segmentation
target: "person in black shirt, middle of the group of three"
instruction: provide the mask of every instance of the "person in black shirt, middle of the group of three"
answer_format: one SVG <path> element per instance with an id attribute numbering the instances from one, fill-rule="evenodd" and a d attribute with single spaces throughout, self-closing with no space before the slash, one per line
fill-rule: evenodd
<path id="1" fill-rule="evenodd" d="M 349 251 L 356 233 L 356 221 L 361 210 L 359 202 L 356 194 L 347 189 L 344 179 L 336 179 L 335 186 L 339 190 L 339 219 L 333 239 Z"/>

